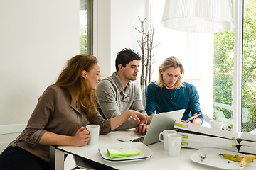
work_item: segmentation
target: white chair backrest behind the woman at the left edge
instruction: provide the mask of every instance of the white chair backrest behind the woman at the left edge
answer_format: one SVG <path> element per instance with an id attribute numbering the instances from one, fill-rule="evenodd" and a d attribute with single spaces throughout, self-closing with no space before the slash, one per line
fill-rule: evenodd
<path id="1" fill-rule="evenodd" d="M 26 128 L 26 124 L 0 125 L 0 153 Z"/>

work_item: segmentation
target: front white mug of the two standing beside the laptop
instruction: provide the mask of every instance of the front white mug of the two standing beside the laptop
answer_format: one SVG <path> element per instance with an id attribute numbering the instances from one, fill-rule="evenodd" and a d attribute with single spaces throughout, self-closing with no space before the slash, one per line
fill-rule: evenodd
<path id="1" fill-rule="evenodd" d="M 170 157 L 178 157 L 181 152 L 182 136 L 178 134 L 167 135 L 168 139 L 168 153 Z"/>

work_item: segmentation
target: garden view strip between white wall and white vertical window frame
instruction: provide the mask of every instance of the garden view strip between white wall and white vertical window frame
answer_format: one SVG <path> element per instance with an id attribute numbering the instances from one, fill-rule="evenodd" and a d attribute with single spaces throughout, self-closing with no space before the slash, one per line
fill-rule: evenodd
<path id="1" fill-rule="evenodd" d="M 213 117 L 233 130 L 234 30 L 215 33 L 213 70 Z"/>

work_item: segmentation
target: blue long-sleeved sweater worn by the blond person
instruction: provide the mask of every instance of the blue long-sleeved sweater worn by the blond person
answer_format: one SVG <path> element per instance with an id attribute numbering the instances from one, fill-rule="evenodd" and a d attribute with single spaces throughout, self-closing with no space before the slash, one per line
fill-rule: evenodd
<path id="1" fill-rule="evenodd" d="M 193 84 L 183 83 L 179 89 L 160 88 L 156 82 L 151 82 L 146 89 L 145 111 L 148 115 L 176 111 L 185 108 L 181 120 L 187 120 L 194 113 L 201 113 L 199 95 Z M 198 116 L 203 123 L 203 115 Z"/>

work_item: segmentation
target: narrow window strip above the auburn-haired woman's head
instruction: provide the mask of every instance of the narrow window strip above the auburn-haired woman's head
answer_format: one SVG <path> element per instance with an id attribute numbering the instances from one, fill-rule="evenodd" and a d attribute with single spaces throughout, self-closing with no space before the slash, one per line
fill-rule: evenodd
<path id="1" fill-rule="evenodd" d="M 92 55 L 92 0 L 80 0 L 80 54 Z"/>

